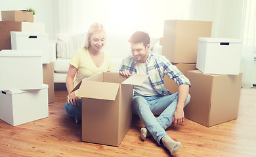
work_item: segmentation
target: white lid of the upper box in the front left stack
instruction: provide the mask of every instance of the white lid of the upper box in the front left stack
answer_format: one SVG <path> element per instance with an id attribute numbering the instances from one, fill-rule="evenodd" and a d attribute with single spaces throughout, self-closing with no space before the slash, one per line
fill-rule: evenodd
<path id="1" fill-rule="evenodd" d="M 36 57 L 42 56 L 43 50 L 1 50 L 0 57 Z"/>

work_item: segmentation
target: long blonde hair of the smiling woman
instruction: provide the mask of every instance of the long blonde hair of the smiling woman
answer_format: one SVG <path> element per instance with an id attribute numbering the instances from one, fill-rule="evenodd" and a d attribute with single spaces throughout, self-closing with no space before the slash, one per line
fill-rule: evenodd
<path id="1" fill-rule="evenodd" d="M 91 38 L 93 33 L 99 33 L 101 31 L 103 31 L 106 34 L 105 29 L 102 26 L 102 24 L 99 24 L 99 23 L 91 24 L 91 26 L 89 27 L 89 29 L 87 31 L 87 36 L 86 36 L 86 39 L 85 39 L 85 47 L 84 48 L 86 50 L 88 50 L 88 48 L 91 46 L 91 43 L 90 43 L 89 39 Z M 106 41 L 106 37 L 105 37 L 105 41 Z"/>

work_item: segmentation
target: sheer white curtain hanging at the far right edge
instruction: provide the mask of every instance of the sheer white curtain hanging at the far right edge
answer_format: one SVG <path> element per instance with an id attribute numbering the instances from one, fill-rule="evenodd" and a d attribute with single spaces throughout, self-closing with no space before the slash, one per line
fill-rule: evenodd
<path id="1" fill-rule="evenodd" d="M 256 1 L 244 1 L 244 40 L 241 69 L 243 71 L 242 86 L 250 88 L 253 86 L 253 61 L 255 50 L 255 22 L 256 22 Z"/>

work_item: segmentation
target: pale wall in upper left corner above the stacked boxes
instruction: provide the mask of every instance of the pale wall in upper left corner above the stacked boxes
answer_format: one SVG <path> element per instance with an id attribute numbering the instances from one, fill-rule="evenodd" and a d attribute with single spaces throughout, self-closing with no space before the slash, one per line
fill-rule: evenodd
<path id="1" fill-rule="evenodd" d="M 55 1 L 55 0 L 53 0 Z M 35 9 L 36 22 L 45 23 L 45 32 L 53 40 L 53 1 L 52 0 L 0 0 L 0 10 Z M 0 20 L 2 18 L 0 17 Z"/>

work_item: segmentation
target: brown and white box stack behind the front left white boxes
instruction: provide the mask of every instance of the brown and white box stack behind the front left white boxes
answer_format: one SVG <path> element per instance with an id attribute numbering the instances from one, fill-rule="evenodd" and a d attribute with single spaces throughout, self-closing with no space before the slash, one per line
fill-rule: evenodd
<path id="1" fill-rule="evenodd" d="M 43 48 L 43 83 L 49 85 L 49 103 L 53 103 L 53 61 L 49 60 L 49 37 L 48 34 L 45 33 L 45 24 L 33 22 L 33 12 L 28 11 L 1 11 L 1 16 L 2 21 L 0 21 L 0 51 L 11 49 L 35 50 L 38 49 L 37 47 Z M 11 31 L 14 31 L 12 33 L 12 43 Z M 44 43 L 40 43 L 42 40 Z"/>

